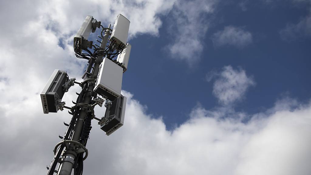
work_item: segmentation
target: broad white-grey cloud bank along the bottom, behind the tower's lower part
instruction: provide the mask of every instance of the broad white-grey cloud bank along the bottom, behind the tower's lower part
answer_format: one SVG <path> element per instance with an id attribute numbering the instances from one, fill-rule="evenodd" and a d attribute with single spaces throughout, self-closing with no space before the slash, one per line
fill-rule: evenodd
<path id="1" fill-rule="evenodd" d="M 253 115 L 221 113 L 197 106 L 188 121 L 169 131 L 161 118 L 146 114 L 145 106 L 132 94 L 123 93 L 128 97 L 124 126 L 106 136 L 97 122 L 92 122 L 85 174 L 308 175 L 311 172 L 310 104 Z M 281 102 L 284 101 L 277 103 Z M 97 114 L 104 112 L 96 110 Z M 2 156 L 6 158 L 0 163 L 2 174 L 46 173 L 45 165 L 53 158 L 53 145 L 59 141 L 57 135 L 65 130 L 62 121 L 70 120 L 60 113 L 43 116 L 35 108 L 30 111 L 24 113 L 27 121 L 21 122 L 23 125 L 11 124 L 6 132 L 2 130 L 2 140 L 7 143 L 1 144 Z M 33 114 L 36 117 L 30 117 Z M 249 120 L 245 123 L 235 116 Z M 10 124 L 9 118 L 3 121 Z"/>

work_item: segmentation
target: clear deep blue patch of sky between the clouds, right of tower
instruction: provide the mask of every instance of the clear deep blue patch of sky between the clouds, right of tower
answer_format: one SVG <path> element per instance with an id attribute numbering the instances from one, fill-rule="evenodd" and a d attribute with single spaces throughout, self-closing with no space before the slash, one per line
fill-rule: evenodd
<path id="1" fill-rule="evenodd" d="M 212 94 L 213 81 L 207 82 L 206 75 L 228 65 L 245 70 L 256 82 L 235 105 L 237 110 L 260 112 L 272 107 L 276 99 L 284 95 L 306 102 L 311 95 L 311 84 L 306 79 L 311 74 L 310 35 L 283 40 L 280 34 L 286 25 L 295 24 L 309 14 L 305 4 L 246 2 L 243 9 L 234 1 L 220 2 L 215 14 L 201 16 L 211 21 L 199 23 L 209 29 L 199 33 L 203 49 L 189 56 L 191 64 L 169 53 L 169 45 L 174 42 L 170 32 L 174 31 L 167 26 L 176 20 L 172 13 L 178 11 L 173 7 L 161 16 L 163 25 L 158 36 L 140 35 L 130 40 L 134 47 L 129 71 L 124 74 L 123 89 L 146 104 L 148 112 L 163 116 L 169 128 L 187 120 L 197 103 L 208 109 L 218 106 Z M 245 41 L 242 46 L 213 44 L 213 35 L 227 26 L 249 32 L 251 41 Z M 190 30 L 196 32 L 196 27 L 190 26 Z M 240 36 L 237 37 L 239 40 Z M 195 47 L 187 46 L 189 50 Z"/>

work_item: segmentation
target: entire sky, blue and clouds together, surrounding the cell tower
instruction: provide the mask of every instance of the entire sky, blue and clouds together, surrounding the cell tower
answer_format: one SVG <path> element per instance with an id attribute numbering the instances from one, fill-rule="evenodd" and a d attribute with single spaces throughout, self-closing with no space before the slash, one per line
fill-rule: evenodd
<path id="1" fill-rule="evenodd" d="M 71 115 L 43 114 L 39 94 L 54 69 L 81 81 L 85 17 L 119 13 L 124 125 L 92 121 L 84 174 L 311 174 L 310 0 L 1 1 L 0 174 L 47 173 Z"/>

